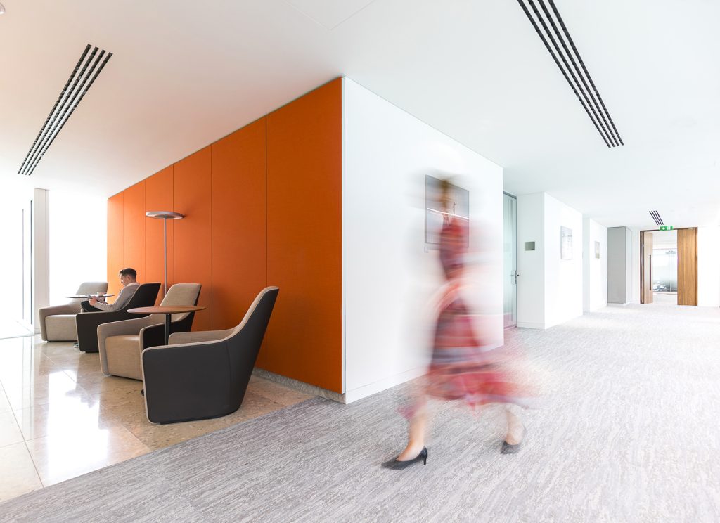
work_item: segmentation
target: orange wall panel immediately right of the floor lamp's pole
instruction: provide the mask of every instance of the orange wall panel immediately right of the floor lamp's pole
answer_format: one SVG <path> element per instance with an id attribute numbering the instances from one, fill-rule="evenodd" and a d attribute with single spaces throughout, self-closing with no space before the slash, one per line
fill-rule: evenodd
<path id="1" fill-rule="evenodd" d="M 175 212 L 185 215 L 174 224 L 174 275 L 176 283 L 200 283 L 193 330 L 212 329 L 212 194 L 210 147 L 174 165 Z"/>

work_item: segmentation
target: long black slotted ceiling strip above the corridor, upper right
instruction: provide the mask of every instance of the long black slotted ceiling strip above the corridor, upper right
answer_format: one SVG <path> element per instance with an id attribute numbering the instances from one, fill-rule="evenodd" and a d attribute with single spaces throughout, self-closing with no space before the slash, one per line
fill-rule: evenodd
<path id="1" fill-rule="evenodd" d="M 565 23 L 553 0 L 518 0 L 528 20 L 544 43 L 555 64 L 562 72 L 572 92 L 580 100 L 582 109 L 598 129 L 608 147 L 623 143 L 615 122 L 610 116 L 593 78 L 585 67 L 575 42 L 570 37 Z M 539 7 L 538 7 L 539 6 Z M 552 14 L 551 14 L 552 11 Z M 558 27 L 559 26 L 559 27 Z"/>

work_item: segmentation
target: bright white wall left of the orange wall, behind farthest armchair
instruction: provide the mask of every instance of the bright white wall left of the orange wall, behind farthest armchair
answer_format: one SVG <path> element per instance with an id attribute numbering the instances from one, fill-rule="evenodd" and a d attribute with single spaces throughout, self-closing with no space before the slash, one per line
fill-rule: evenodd
<path id="1" fill-rule="evenodd" d="M 49 194 L 49 301 L 61 304 L 84 281 L 107 280 L 107 199 Z"/>

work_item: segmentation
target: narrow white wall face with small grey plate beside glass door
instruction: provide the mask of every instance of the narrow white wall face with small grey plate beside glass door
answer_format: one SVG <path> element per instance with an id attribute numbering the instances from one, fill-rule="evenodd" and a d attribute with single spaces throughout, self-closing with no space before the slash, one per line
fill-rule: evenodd
<path id="1" fill-rule="evenodd" d="M 543 193 L 518 196 L 518 327 L 545 328 L 544 205 Z"/>

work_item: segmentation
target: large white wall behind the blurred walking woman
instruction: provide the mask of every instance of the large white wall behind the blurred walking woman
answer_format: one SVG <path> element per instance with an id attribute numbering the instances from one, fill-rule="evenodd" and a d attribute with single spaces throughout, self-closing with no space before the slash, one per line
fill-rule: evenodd
<path id="1" fill-rule="evenodd" d="M 441 283 L 425 249 L 424 176 L 454 174 L 470 193 L 471 247 L 488 332 L 503 339 L 503 169 L 343 79 L 343 390 L 347 402 L 426 370 Z M 489 305 L 488 305 L 489 304 Z"/>

